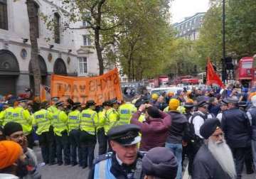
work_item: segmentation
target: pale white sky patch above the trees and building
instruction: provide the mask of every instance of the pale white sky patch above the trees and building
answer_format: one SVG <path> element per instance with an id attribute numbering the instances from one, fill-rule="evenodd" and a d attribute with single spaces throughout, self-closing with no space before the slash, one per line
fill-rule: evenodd
<path id="1" fill-rule="evenodd" d="M 206 12 L 208 8 L 209 0 L 174 0 L 171 3 L 171 23 L 181 22 L 198 12 Z"/>

